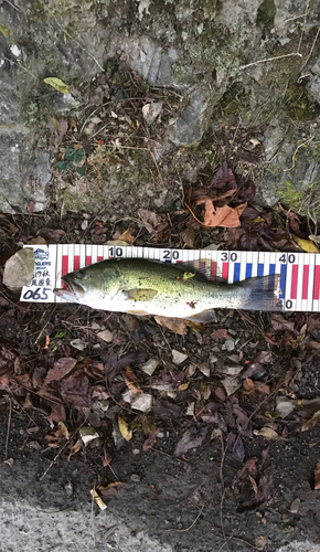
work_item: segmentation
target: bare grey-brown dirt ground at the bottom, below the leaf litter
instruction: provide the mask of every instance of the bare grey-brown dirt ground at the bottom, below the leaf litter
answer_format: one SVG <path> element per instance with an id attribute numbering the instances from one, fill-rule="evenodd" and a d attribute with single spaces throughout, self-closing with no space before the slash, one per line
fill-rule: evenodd
<path id="1" fill-rule="evenodd" d="M 1 417 L 3 450 L 3 412 Z M 43 477 L 52 455 L 41 439 L 28 437 L 30 418 L 32 425 L 43 423 L 34 414 L 13 412 L 9 453 L 14 463 L 2 461 L 0 468 L 3 552 L 67 551 L 78 542 L 82 550 L 94 551 L 249 551 L 263 544 L 274 551 L 291 541 L 319 542 L 320 499 L 312 490 L 319 427 L 270 446 L 275 484 L 268 501 L 257 508 L 242 511 L 232 496 L 238 464 L 226 455 L 222 466 L 220 442 L 209 439 L 186 461 L 170 454 L 178 434 L 140 455 L 132 455 L 131 444 L 119 450 L 113 469 L 99 471 L 104 481 L 116 476 L 126 486 L 107 510 L 98 511 L 89 496 L 97 473 L 85 457 L 61 458 Z M 249 439 L 247 455 L 259 456 L 265 446 L 262 437 Z"/>

